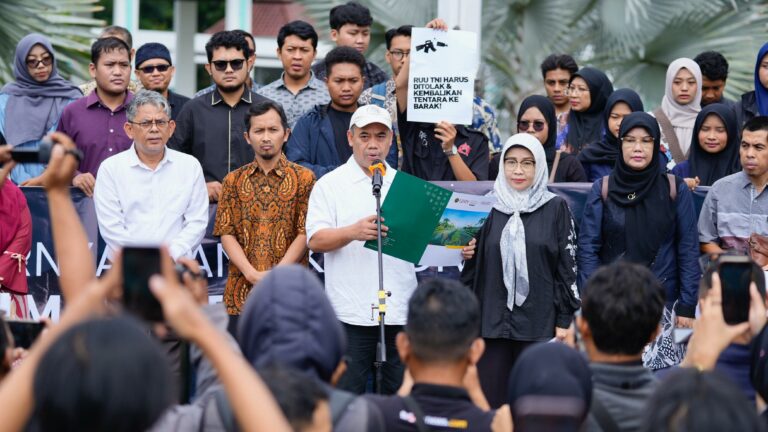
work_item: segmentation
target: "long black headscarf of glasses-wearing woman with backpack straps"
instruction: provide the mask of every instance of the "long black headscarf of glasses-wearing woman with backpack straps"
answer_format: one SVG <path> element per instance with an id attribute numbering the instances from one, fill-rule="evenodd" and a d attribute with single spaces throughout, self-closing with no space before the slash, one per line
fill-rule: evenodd
<path id="1" fill-rule="evenodd" d="M 674 228 L 675 206 L 669 196 L 669 178 L 659 167 L 659 123 L 648 113 L 631 113 L 621 121 L 619 137 L 637 127 L 645 129 L 653 137 L 651 163 L 636 171 L 619 155 L 608 179 L 608 198 L 625 208 L 624 258 L 650 266 L 662 242 Z"/>

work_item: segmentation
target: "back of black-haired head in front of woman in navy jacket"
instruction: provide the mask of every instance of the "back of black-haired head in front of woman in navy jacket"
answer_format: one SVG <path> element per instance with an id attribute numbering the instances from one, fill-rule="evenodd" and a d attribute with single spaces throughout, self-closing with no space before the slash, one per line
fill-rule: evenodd
<path id="1" fill-rule="evenodd" d="M 664 295 L 644 266 L 618 261 L 601 267 L 584 287 L 579 330 L 602 354 L 639 356 L 659 328 Z"/>

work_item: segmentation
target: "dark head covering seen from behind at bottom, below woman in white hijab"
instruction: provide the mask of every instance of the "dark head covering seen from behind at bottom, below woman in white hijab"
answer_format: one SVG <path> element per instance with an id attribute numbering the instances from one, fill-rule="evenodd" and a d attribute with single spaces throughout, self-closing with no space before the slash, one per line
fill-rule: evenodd
<path id="1" fill-rule="evenodd" d="M 512 418 L 519 417 L 517 402 L 522 398 L 548 396 L 583 401 L 582 419 L 585 419 L 592 403 L 592 371 L 573 348 L 559 343 L 536 344 L 520 354 L 509 375 L 508 388 Z M 517 426 L 515 424 L 515 430 Z"/>

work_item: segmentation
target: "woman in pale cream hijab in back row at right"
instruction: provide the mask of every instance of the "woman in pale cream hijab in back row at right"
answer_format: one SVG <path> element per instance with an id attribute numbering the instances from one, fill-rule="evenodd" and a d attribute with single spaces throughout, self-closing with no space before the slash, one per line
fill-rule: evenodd
<path id="1" fill-rule="evenodd" d="M 664 98 L 651 113 L 661 128 L 661 151 L 667 156 L 668 169 L 690 154 L 693 126 L 701 111 L 701 83 L 695 61 L 681 57 L 669 64 Z"/>

